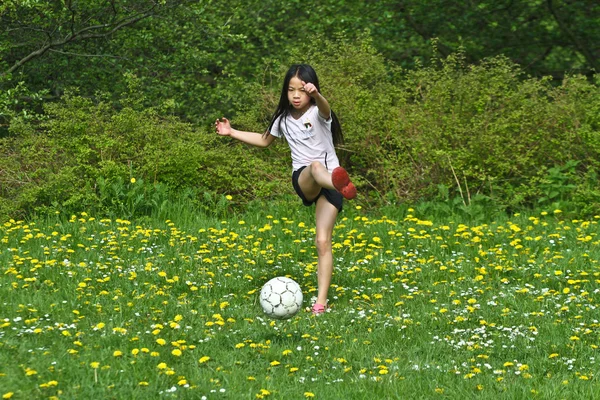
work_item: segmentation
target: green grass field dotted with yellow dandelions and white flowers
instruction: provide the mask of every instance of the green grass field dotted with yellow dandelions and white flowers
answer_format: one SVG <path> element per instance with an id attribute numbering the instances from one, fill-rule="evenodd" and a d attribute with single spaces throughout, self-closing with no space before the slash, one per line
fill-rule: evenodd
<path id="1" fill-rule="evenodd" d="M 0 225 L 0 396 L 600 396 L 599 217 L 347 205 L 329 312 L 274 321 L 262 284 L 290 276 L 310 307 L 316 252 L 312 209 L 268 212 Z"/>

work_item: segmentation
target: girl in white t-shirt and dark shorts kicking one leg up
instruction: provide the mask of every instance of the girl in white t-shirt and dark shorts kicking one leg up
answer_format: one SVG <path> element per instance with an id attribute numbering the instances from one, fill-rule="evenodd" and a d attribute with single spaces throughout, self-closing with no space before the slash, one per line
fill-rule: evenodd
<path id="1" fill-rule="evenodd" d="M 316 204 L 318 255 L 317 301 L 312 311 L 325 312 L 333 273 L 332 234 L 342 196 L 356 197 L 356 188 L 339 165 L 334 145 L 341 143 L 342 130 L 321 95 L 315 70 L 306 64 L 292 65 L 283 81 L 281 98 L 269 129 L 264 133 L 233 129 L 226 118 L 215 122 L 217 134 L 254 146 L 267 147 L 276 137 L 285 137 L 292 153 L 292 184 L 306 206 Z"/>

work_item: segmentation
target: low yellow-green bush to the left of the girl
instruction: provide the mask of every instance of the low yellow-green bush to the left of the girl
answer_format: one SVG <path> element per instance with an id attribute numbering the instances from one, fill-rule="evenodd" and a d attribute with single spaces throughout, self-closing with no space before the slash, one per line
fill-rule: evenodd
<path id="1" fill-rule="evenodd" d="M 68 93 L 46 105 L 48 119 L 37 131 L 15 120 L 12 135 L 0 142 L 3 215 L 87 207 L 131 217 L 189 189 L 197 200 L 209 192 L 243 202 L 278 184 L 270 172 L 276 167 L 248 156 L 255 150 L 157 109 L 136 109 L 139 102 L 132 92 L 116 110 Z M 132 178 L 135 184 L 126 183 Z"/>

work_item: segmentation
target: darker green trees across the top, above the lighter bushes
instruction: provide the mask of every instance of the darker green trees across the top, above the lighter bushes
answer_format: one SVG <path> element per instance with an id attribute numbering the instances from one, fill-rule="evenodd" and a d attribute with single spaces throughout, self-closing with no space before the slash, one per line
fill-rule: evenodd
<path id="1" fill-rule="evenodd" d="M 147 104 L 207 123 L 245 106 L 264 60 L 368 30 L 373 47 L 407 69 L 462 49 L 469 64 L 505 55 L 533 76 L 598 70 L 600 6 L 592 0 L 230 0 L 4 2 L 0 75 L 56 99 L 71 87 L 118 102 L 127 73 Z M 432 47 L 432 41 L 438 45 Z M 297 54 L 297 53 L 296 53 Z"/>

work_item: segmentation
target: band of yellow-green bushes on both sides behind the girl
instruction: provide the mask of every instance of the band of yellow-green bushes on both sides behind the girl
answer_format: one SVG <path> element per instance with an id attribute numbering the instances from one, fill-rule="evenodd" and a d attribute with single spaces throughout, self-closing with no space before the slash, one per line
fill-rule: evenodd
<path id="1" fill-rule="evenodd" d="M 468 65 L 461 53 L 407 71 L 387 63 L 368 35 L 317 40 L 319 48 L 265 61 L 269 72 L 236 100 L 235 127 L 264 131 L 288 66 L 309 62 L 342 123 L 339 156 L 362 203 L 437 203 L 438 213 L 473 217 L 523 207 L 600 212 L 598 82 L 572 76 L 553 86 L 503 57 Z M 223 214 L 293 193 L 284 142 L 256 149 L 218 137 L 212 125 L 170 115 L 168 103 L 144 107 L 140 83 L 126 79 L 130 93 L 117 106 L 70 92 L 47 103 L 42 119 L 11 119 L 0 139 L 0 217 L 143 215 L 181 193 Z"/>

